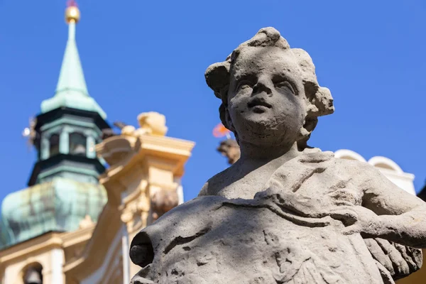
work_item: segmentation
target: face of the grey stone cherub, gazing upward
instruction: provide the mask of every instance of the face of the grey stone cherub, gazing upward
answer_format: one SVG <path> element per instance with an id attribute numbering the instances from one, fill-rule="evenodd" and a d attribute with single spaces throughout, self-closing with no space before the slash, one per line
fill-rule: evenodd
<path id="1" fill-rule="evenodd" d="M 227 119 L 240 143 L 293 145 L 305 120 L 305 93 L 294 55 L 244 48 L 231 69 Z"/>

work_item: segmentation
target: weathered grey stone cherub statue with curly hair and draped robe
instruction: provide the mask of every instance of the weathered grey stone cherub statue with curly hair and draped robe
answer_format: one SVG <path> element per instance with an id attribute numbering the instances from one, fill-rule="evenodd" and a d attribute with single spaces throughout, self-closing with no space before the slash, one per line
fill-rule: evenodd
<path id="1" fill-rule="evenodd" d="M 241 158 L 136 235 L 133 283 L 394 283 L 420 268 L 425 202 L 307 146 L 334 107 L 304 50 L 264 28 L 206 80 Z"/>

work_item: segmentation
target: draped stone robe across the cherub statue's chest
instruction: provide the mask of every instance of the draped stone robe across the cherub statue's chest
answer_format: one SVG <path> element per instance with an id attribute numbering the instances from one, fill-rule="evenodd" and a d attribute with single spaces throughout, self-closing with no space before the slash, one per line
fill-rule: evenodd
<path id="1" fill-rule="evenodd" d="M 304 154 L 253 200 L 180 205 L 133 239 L 154 253 L 134 283 L 373 284 L 412 273 L 420 250 L 343 233 L 353 220 L 339 208 L 362 205 L 353 166 L 329 152 Z"/>

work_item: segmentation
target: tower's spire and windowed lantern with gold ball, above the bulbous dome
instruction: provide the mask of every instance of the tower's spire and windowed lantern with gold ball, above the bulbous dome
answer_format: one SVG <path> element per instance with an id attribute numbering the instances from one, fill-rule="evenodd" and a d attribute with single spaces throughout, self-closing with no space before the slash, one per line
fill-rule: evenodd
<path id="1" fill-rule="evenodd" d="M 55 96 L 41 103 L 34 139 L 38 162 L 29 186 L 55 177 L 97 184 L 105 168 L 96 157 L 94 145 L 109 128 L 107 114 L 89 97 L 75 41 L 80 11 L 75 3 L 65 13 L 68 40 Z"/>

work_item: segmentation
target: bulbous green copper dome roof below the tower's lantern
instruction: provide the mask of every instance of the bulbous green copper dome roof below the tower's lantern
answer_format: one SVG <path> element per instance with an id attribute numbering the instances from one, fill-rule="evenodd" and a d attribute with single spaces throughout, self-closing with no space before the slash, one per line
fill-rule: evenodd
<path id="1" fill-rule="evenodd" d="M 102 185 L 67 178 L 13 192 L 1 204 L 0 249 L 48 231 L 75 231 L 86 215 L 97 222 L 106 202 Z"/>

